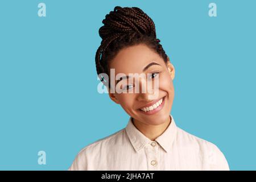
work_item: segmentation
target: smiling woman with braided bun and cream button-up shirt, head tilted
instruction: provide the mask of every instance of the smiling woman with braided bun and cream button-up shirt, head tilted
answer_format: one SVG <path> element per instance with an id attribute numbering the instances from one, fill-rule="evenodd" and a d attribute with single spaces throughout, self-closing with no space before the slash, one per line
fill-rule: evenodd
<path id="1" fill-rule="evenodd" d="M 102 23 L 97 73 L 130 118 L 125 129 L 82 149 L 69 170 L 229 170 L 216 145 L 176 126 L 170 114 L 175 69 L 152 19 L 138 7 L 117 6 Z M 111 70 L 125 76 L 111 83 Z M 135 82 L 131 73 L 147 76 Z M 150 81 L 153 92 L 142 92 Z"/>

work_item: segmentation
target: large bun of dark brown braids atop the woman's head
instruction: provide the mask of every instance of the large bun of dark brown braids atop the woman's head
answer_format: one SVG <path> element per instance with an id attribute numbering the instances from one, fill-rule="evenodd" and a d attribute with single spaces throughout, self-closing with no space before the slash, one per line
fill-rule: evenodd
<path id="1" fill-rule="evenodd" d="M 102 40 L 134 32 L 156 38 L 154 22 L 138 7 L 115 6 L 114 11 L 110 11 L 102 23 L 104 26 L 99 30 Z"/>

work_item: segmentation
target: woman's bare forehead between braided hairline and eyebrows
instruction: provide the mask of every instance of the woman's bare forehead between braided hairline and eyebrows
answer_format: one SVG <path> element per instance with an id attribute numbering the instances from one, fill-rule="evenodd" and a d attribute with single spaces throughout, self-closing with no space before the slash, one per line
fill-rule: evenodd
<path id="1" fill-rule="evenodd" d="M 115 69 L 115 73 L 141 73 L 143 68 L 152 61 L 163 65 L 162 57 L 144 44 L 130 46 L 121 49 L 110 61 L 109 67 Z"/>

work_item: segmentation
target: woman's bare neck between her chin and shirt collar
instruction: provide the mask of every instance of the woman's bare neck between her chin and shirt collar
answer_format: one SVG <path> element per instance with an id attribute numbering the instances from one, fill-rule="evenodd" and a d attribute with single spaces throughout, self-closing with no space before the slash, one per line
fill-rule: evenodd
<path id="1" fill-rule="evenodd" d="M 167 127 L 171 123 L 171 117 L 168 117 L 168 120 L 160 125 L 148 125 L 146 123 L 137 121 L 132 118 L 133 124 L 143 135 L 145 135 L 148 139 L 154 141 L 160 135 L 164 133 Z"/>

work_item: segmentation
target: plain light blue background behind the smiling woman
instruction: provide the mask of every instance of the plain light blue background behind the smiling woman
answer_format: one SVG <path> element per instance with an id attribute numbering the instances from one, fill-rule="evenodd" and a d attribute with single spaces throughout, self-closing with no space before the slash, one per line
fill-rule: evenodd
<path id="1" fill-rule="evenodd" d="M 216 144 L 230 169 L 256 169 L 253 0 L 1 0 L 0 169 L 66 170 L 83 147 L 126 126 L 129 115 L 97 92 L 94 63 L 98 28 L 117 5 L 155 22 L 176 69 L 177 126 Z"/>

